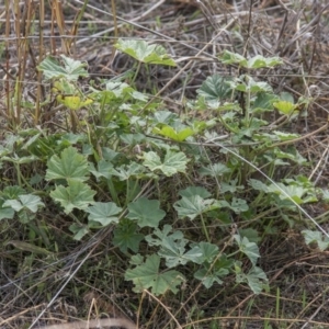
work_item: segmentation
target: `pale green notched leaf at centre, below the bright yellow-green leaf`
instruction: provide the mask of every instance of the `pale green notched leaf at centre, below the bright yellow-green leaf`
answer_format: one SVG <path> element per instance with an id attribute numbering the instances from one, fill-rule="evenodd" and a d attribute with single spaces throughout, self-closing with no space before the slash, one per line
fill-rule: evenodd
<path id="1" fill-rule="evenodd" d="M 186 163 L 189 159 L 183 152 L 175 152 L 172 150 L 168 150 L 163 162 L 160 157 L 154 152 L 144 152 L 143 155 L 145 167 L 148 167 L 151 171 L 160 170 L 167 177 L 171 177 L 178 172 L 185 172 Z"/>

